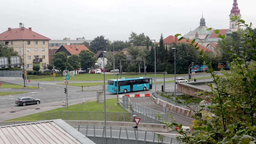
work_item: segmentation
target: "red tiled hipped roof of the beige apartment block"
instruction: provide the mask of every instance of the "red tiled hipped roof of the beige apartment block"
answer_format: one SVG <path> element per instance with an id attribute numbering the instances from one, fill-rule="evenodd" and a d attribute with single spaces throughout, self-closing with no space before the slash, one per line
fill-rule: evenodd
<path id="1" fill-rule="evenodd" d="M 34 36 L 33 36 L 34 35 Z M 27 28 L 12 28 L 0 34 L 0 40 L 51 40 Z"/>

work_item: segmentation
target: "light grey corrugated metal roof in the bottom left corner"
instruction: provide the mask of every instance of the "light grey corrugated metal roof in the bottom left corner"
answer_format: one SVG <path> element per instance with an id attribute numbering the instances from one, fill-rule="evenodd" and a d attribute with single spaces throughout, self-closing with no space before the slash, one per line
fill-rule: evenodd
<path id="1" fill-rule="evenodd" d="M 95 144 L 63 120 L 0 127 L 0 144 Z"/>

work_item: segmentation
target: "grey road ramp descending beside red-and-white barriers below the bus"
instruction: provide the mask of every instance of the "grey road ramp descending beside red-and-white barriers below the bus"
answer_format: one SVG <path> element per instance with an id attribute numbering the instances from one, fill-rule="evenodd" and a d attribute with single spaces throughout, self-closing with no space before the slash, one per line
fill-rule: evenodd
<path id="1" fill-rule="evenodd" d="M 153 100 L 151 100 L 150 97 L 137 97 L 137 98 L 129 98 L 129 99 L 132 103 L 137 103 L 142 106 L 145 106 L 145 107 L 148 107 L 148 108 L 160 111 L 160 112 L 164 112 L 163 108 L 161 106 L 158 106 L 157 104 L 155 104 L 153 102 Z M 174 113 L 169 110 L 168 110 L 168 113 L 170 113 L 174 117 L 176 123 L 178 123 L 178 124 L 182 124 L 183 126 L 190 126 L 193 124 L 192 121 L 194 119 L 192 119 L 190 117 L 183 116 L 183 115 Z M 171 117 L 168 116 L 168 121 L 170 121 L 170 120 L 171 120 Z"/>

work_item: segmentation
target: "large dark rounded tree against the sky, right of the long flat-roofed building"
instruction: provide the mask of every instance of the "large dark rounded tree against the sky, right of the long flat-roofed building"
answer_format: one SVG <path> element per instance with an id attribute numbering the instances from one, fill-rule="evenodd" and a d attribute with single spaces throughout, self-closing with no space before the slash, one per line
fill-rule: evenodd
<path id="1" fill-rule="evenodd" d="M 105 50 L 108 47 L 107 39 L 104 36 L 97 36 L 95 37 L 92 42 L 90 43 L 90 50 L 94 53 L 98 52 L 99 50 Z"/>

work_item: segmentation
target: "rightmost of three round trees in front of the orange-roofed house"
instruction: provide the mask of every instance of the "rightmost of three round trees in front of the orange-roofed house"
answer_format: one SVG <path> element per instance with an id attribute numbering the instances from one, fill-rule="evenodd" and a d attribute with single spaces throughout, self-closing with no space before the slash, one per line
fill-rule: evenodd
<path id="1" fill-rule="evenodd" d="M 79 53 L 79 58 L 81 60 L 81 67 L 85 69 L 94 67 L 97 62 L 97 58 L 94 56 L 94 53 L 88 50 L 82 50 Z"/>

